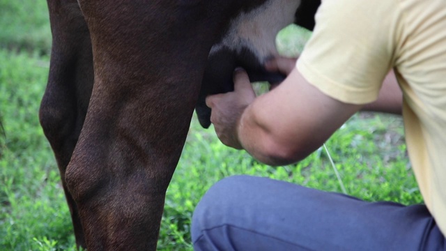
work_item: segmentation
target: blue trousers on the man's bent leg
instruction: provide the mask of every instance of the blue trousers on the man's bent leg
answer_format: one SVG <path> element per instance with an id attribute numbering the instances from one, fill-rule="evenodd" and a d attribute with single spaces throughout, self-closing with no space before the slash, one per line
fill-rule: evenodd
<path id="1" fill-rule="evenodd" d="M 208 190 L 192 218 L 192 241 L 197 251 L 446 250 L 424 205 L 371 203 L 253 176 Z"/>

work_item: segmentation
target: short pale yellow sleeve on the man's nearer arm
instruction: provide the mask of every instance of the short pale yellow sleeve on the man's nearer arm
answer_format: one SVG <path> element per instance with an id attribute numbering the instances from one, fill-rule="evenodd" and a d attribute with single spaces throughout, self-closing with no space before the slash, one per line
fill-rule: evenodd
<path id="1" fill-rule="evenodd" d="M 296 67 L 326 95 L 353 104 L 378 97 L 394 62 L 399 10 L 393 0 L 324 0 Z"/>

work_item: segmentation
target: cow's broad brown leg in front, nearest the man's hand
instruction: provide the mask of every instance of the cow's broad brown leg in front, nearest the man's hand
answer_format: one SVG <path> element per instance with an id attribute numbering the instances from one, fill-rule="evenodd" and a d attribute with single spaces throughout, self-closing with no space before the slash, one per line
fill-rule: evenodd
<path id="1" fill-rule="evenodd" d="M 218 22 L 210 1 L 97 2 L 80 1 L 95 83 L 66 182 L 89 250 L 154 250 Z"/>

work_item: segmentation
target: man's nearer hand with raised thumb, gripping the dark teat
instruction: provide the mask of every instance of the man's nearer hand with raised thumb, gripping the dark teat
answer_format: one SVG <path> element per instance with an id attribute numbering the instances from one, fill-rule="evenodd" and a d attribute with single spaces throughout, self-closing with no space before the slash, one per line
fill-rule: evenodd
<path id="1" fill-rule="evenodd" d="M 256 94 L 245 70 L 236 69 L 233 80 L 233 92 L 208 96 L 206 105 L 212 109 L 210 122 L 213 123 L 220 141 L 226 146 L 243 149 L 238 139 L 238 123 L 245 108 L 256 98 Z"/>

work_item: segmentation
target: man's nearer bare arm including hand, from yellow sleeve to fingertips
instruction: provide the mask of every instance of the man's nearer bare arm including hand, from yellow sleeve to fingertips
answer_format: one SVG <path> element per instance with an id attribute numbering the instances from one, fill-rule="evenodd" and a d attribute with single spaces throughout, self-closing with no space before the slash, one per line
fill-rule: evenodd
<path id="1" fill-rule="evenodd" d="M 295 68 L 258 98 L 244 71 L 236 71 L 234 82 L 235 91 L 206 99 L 217 136 L 268 165 L 307 157 L 361 108 L 326 96 Z"/>

